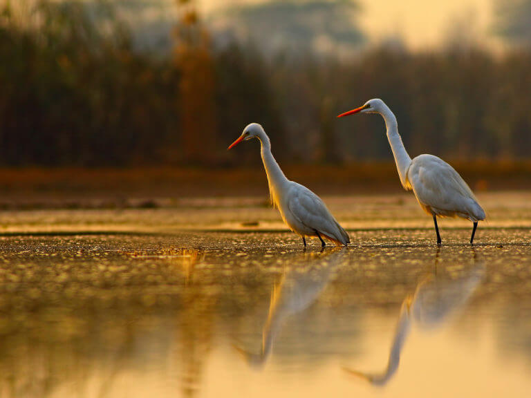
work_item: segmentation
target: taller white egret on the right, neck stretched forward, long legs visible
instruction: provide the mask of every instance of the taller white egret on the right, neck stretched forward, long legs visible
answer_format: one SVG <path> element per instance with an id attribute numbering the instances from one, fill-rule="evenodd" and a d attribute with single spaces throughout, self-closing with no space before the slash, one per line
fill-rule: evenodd
<path id="1" fill-rule="evenodd" d="M 382 99 L 369 99 L 360 108 L 342 113 L 337 117 L 358 112 L 380 113 L 384 118 L 387 138 L 393 151 L 402 187 L 406 191 L 413 190 L 422 209 L 433 216 L 437 244 L 441 243 L 437 217 L 461 217 L 474 223 L 470 237 L 470 244 L 473 245 L 478 221 L 485 220 L 485 211 L 465 180 L 453 167 L 437 156 L 418 155 L 411 160 L 398 134 L 396 117 Z"/>

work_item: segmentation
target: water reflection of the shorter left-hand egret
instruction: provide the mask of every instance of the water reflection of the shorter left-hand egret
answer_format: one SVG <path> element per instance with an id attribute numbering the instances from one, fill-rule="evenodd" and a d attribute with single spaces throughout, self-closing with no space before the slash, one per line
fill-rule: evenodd
<path id="1" fill-rule="evenodd" d="M 248 352 L 234 345 L 249 366 L 261 368 L 265 364 L 271 354 L 274 339 L 286 320 L 304 312 L 317 301 L 328 285 L 334 269 L 342 263 L 346 254 L 346 249 L 335 249 L 313 258 L 309 263 L 292 264 L 282 275 L 272 290 L 268 319 L 262 329 L 260 352 Z"/>

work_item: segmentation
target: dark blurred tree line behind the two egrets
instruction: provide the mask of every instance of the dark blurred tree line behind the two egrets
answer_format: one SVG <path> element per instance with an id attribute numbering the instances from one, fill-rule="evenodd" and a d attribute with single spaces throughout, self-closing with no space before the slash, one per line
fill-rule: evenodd
<path id="1" fill-rule="evenodd" d="M 284 162 L 390 160 L 380 117 L 336 120 L 380 97 L 411 155 L 462 160 L 531 153 L 531 52 L 476 46 L 410 53 L 380 46 L 348 60 L 311 52 L 263 57 L 213 44 L 193 1 L 176 0 L 169 57 L 139 52 L 109 6 L 38 1 L 27 23 L 0 15 L 0 164 L 220 165 L 263 124 Z M 103 16 L 103 17 L 102 17 Z"/>

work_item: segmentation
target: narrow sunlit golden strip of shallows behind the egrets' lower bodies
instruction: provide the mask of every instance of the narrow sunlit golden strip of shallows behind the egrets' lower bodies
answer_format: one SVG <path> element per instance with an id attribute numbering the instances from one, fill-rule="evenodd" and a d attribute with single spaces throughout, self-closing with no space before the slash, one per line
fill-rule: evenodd
<path id="1" fill-rule="evenodd" d="M 399 191 L 400 192 L 400 191 Z M 0 211 L 0 234 L 135 233 L 176 234 L 180 231 L 286 231 L 266 196 L 234 198 L 144 198 L 147 209 L 41 209 Z M 531 191 L 482 192 L 487 211 L 478 233 L 486 229 L 531 228 Z M 390 195 L 324 196 L 341 225 L 360 229 L 433 229 L 411 193 Z M 446 228 L 471 229 L 471 222 L 443 219 Z"/>

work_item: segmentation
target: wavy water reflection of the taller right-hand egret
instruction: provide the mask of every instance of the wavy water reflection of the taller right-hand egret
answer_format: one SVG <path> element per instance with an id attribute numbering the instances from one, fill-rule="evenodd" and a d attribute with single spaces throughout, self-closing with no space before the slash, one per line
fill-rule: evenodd
<path id="1" fill-rule="evenodd" d="M 400 353 L 411 325 L 423 330 L 443 325 L 451 314 L 464 307 L 483 280 L 483 274 L 484 267 L 480 264 L 467 269 L 456 279 L 441 278 L 437 274 L 424 278 L 418 283 L 415 293 L 408 294 L 402 301 L 386 370 L 381 373 L 344 370 L 374 386 L 385 386 L 398 370 Z"/>

